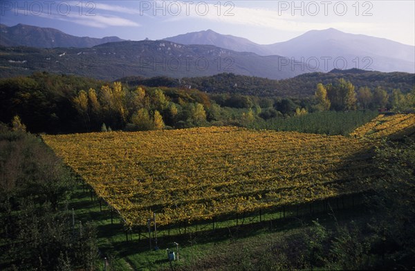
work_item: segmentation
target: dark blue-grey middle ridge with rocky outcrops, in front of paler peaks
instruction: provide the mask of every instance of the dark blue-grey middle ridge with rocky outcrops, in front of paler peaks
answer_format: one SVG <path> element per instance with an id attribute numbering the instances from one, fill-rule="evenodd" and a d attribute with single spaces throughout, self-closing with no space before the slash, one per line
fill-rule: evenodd
<path id="1" fill-rule="evenodd" d="M 225 72 L 282 79 L 308 71 L 292 69 L 289 59 L 277 55 L 264 57 L 211 45 L 181 45 L 163 40 L 120 41 L 93 48 L 2 47 L 0 52 L 2 77 L 49 71 L 114 80 L 131 75 L 181 78 Z"/>

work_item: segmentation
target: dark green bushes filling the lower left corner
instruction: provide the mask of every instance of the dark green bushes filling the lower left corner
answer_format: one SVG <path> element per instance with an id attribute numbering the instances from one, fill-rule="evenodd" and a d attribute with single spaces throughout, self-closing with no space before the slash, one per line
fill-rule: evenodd
<path id="1" fill-rule="evenodd" d="M 74 232 L 65 205 L 75 181 L 39 138 L 0 131 L 1 270 L 91 269 L 95 228 Z"/>

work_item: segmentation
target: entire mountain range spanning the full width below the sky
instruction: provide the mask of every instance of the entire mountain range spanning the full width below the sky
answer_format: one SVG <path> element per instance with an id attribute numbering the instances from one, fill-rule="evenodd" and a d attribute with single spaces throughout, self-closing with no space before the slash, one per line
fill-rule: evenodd
<path id="1" fill-rule="evenodd" d="M 2 77 L 50 71 L 113 80 L 225 72 L 279 80 L 333 68 L 415 73 L 415 46 L 333 28 L 268 45 L 212 30 L 159 41 L 75 37 L 23 24 L 0 25 L 0 34 Z"/>

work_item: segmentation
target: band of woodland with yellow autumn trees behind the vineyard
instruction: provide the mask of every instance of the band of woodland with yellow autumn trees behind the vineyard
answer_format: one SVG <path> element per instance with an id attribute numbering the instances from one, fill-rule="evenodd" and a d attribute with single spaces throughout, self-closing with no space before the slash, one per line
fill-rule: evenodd
<path id="1" fill-rule="evenodd" d="M 329 84 L 318 82 L 313 86 L 313 95 L 300 98 L 208 94 L 188 87 L 130 85 L 48 73 L 0 80 L 0 105 L 6 109 L 1 111 L 0 121 L 10 122 L 18 115 L 28 131 L 34 133 L 138 131 L 228 124 L 252 127 L 253 123 L 278 129 L 277 122 L 289 120 L 292 123 L 295 117 L 304 118 L 315 112 L 411 111 L 415 104 L 415 89 L 401 91 L 381 85 L 357 88 L 343 78 Z M 333 113 L 328 115 L 326 124 L 342 121 L 335 120 L 337 117 Z M 345 118 L 347 114 L 340 115 Z M 353 114 L 349 115 L 354 118 Z M 347 130 L 362 123 L 357 122 Z M 293 129 L 299 127 L 289 130 Z M 306 131 L 321 133 L 324 130 L 333 134 L 318 127 Z"/>

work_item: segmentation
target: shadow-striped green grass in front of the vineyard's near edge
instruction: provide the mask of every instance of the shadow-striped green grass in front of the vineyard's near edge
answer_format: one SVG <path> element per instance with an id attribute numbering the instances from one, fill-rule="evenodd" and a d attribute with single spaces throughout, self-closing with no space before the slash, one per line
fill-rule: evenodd
<path id="1" fill-rule="evenodd" d="M 355 209 L 348 209 L 352 207 L 352 202 L 346 198 L 340 201 L 333 199 L 330 205 L 333 205 L 336 213 L 341 212 L 339 216 L 350 218 L 363 214 L 357 210 L 358 203 L 353 198 Z M 255 213 L 244 217 L 239 214 L 238 221 L 232 216 L 223 218 L 214 222 L 214 228 L 211 221 L 189 225 L 186 230 L 183 225 L 160 228 L 159 250 L 154 250 L 154 239 L 151 239 L 153 249 L 149 249 L 148 232 L 144 232 L 145 229 L 133 228 L 128 231 L 127 241 L 122 219 L 113 214 L 111 224 L 109 207 L 102 205 L 101 211 L 98 200 L 91 200 L 89 191 L 82 191 L 82 187 L 77 189 L 69 208 L 75 209 L 76 221 L 93 221 L 96 225 L 100 257 L 109 259 L 107 270 L 170 270 L 166 249 L 176 251 L 174 242 L 179 243 L 179 259 L 172 263 L 174 270 L 215 270 L 215 267 L 228 264 L 230 256 L 236 255 L 234 250 L 240 250 L 238 255 L 243 257 L 244 251 L 250 254 L 250 251 L 260 250 L 261 246 L 285 234 L 304 230 L 316 218 L 320 218 L 321 223 L 333 223 L 329 214 L 331 211 L 324 209 L 322 204 L 315 203 L 313 212 L 310 212 L 309 205 L 300 206 L 298 216 L 297 207 L 287 207 L 285 218 L 284 210 L 275 208 L 261 214 L 261 219 Z M 102 260 L 98 263 L 98 269 L 103 266 Z"/>

